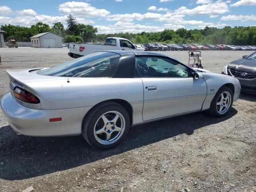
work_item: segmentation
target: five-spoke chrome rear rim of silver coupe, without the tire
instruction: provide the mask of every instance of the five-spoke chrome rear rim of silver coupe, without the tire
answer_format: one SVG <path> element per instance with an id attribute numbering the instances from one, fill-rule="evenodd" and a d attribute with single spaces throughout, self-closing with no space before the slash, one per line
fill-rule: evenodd
<path id="1" fill-rule="evenodd" d="M 124 116 L 117 111 L 109 111 L 104 113 L 94 125 L 95 139 L 104 145 L 116 142 L 125 129 Z"/>

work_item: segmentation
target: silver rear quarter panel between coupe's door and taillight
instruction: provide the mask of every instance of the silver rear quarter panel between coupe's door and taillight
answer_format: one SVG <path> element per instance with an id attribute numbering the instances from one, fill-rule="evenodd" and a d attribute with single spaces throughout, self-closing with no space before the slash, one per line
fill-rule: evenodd
<path id="1" fill-rule="evenodd" d="M 42 109 L 92 107 L 113 99 L 130 103 L 134 123 L 142 122 L 143 84 L 140 78 L 69 78 L 27 82 L 41 101 Z"/>

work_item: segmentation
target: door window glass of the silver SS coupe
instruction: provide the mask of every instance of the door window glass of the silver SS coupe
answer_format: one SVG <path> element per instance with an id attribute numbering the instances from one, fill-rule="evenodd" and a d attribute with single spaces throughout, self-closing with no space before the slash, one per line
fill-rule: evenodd
<path id="1" fill-rule="evenodd" d="M 136 70 L 140 77 L 191 77 L 190 70 L 169 58 L 161 57 L 137 57 Z"/>

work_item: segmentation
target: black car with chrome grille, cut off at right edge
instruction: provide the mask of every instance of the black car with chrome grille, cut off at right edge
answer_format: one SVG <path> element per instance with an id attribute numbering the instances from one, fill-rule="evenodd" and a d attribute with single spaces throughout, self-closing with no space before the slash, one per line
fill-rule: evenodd
<path id="1" fill-rule="evenodd" d="M 222 74 L 237 78 L 242 92 L 256 94 L 256 52 L 232 61 L 224 67 Z"/>

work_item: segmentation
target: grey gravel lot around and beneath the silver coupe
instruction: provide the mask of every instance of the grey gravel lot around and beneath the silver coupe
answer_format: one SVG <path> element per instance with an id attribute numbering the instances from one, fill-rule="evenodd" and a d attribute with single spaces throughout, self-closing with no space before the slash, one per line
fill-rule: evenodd
<path id="1" fill-rule="evenodd" d="M 205 69 L 252 51 L 202 51 Z M 0 48 L 0 96 L 6 69 L 55 66 L 71 60 L 67 48 Z M 188 63 L 188 52 L 164 54 Z M 241 94 L 230 113 L 204 112 L 130 129 L 112 150 L 99 151 L 82 136 L 16 136 L 0 112 L 0 191 L 19 192 L 256 192 L 256 97 Z"/>

